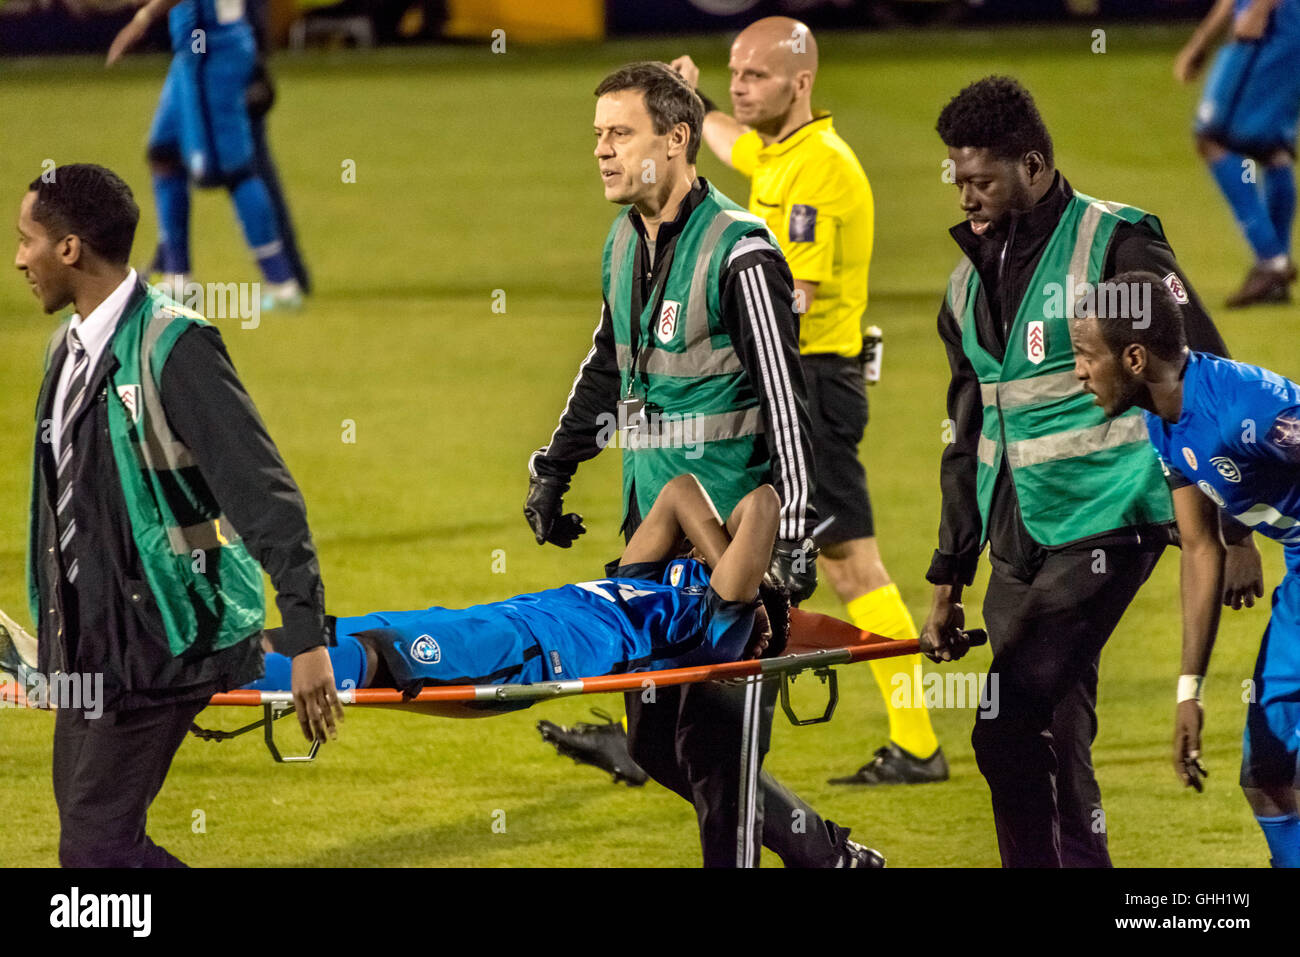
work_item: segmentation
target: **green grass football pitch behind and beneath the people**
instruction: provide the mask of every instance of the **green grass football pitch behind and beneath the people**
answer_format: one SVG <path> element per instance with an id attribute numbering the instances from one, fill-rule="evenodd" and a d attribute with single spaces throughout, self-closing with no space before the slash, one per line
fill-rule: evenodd
<path id="1" fill-rule="evenodd" d="M 857 150 L 876 196 L 871 321 L 885 329 L 885 376 L 872 390 L 863 446 L 887 563 L 918 622 L 935 546 L 948 369 L 935 334 L 957 257 L 959 218 L 940 179 L 939 109 L 971 79 L 1020 77 L 1079 189 L 1157 212 L 1195 286 L 1221 303 L 1248 251 L 1191 150 L 1195 91 L 1170 62 L 1180 33 L 1088 29 L 827 35 L 818 101 Z M 578 580 L 619 549 L 618 469 L 580 472 L 568 502 L 590 529 L 572 550 L 538 549 L 520 514 L 528 454 L 543 443 L 597 320 L 598 256 L 614 215 L 592 157 L 592 90 L 623 61 L 692 52 L 725 96 L 724 38 L 649 40 L 506 56 L 484 48 L 283 56 L 273 139 L 318 283 L 306 312 L 224 334 L 309 505 L 329 606 L 339 614 L 463 605 Z M 87 59 L 10 61 L 0 86 L 0 183 L 17 217 L 44 159 L 122 173 L 143 208 L 136 259 L 156 237 L 143 160 L 165 60 L 103 72 Z M 344 160 L 356 182 L 343 183 Z M 711 157 L 701 170 L 738 200 L 744 182 Z M 194 257 L 204 281 L 255 280 L 230 203 L 200 194 Z M 493 290 L 507 312 L 491 311 Z M 0 283 L 0 606 L 26 619 L 23 547 L 31 410 L 52 320 L 17 276 Z M 1219 312 L 1235 356 L 1300 374 L 1295 312 Z M 342 441 L 354 420 L 356 442 Z M 507 571 L 494 575 L 493 551 Z M 1270 586 L 1280 551 L 1262 545 Z M 979 622 L 985 575 L 968 592 Z M 823 590 L 811 607 L 836 612 Z M 274 616 L 274 611 L 272 611 Z M 1266 602 L 1225 618 L 1208 683 L 1197 796 L 1169 767 L 1179 615 L 1166 557 L 1102 658 L 1095 749 L 1118 865 L 1262 865 L 1268 853 L 1236 785 L 1244 705 Z M 982 650 L 956 666 L 985 668 Z M 928 666 L 927 666 L 928 667 Z M 954 666 L 948 666 L 954 667 Z M 797 685 L 814 706 L 811 679 Z M 867 668 L 841 670 L 827 726 L 777 718 L 768 767 L 824 815 L 898 866 L 997 863 L 988 792 L 968 744 L 972 713 L 933 714 L 953 779 L 864 791 L 824 781 L 884 742 Z M 568 700 L 493 720 L 432 720 L 354 710 L 341 740 L 309 766 L 274 766 L 252 736 L 188 740 L 150 815 L 151 835 L 194 865 L 675 865 L 698 863 L 694 815 L 658 787 L 612 787 L 560 759 L 540 718 L 582 719 Z M 235 727 L 248 711 L 220 710 Z M 49 785 L 53 720 L 0 714 L 0 863 L 56 862 Z M 296 733 L 281 727 L 281 739 Z M 194 832 L 202 810 L 205 831 Z M 504 833 L 494 832 L 504 811 Z M 1190 856 L 1190 848 L 1196 848 Z M 774 856 L 764 856 L 776 863 Z"/>

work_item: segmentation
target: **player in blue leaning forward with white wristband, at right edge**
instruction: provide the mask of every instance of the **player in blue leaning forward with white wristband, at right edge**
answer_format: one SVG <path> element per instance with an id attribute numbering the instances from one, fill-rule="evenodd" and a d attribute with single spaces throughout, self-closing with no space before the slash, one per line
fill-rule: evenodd
<path id="1" fill-rule="evenodd" d="M 1242 755 L 1245 792 L 1277 867 L 1300 867 L 1300 385 L 1256 365 L 1190 352 L 1173 295 L 1150 273 L 1149 315 L 1074 322 L 1075 374 L 1108 416 L 1145 410 L 1182 540 L 1183 655 L 1174 768 L 1201 788 L 1201 684 L 1218 631 L 1223 534 L 1251 529 L 1284 546 L 1286 576 L 1254 666 Z M 1131 300 L 1131 298 L 1130 298 Z M 1098 296 L 1100 302 L 1100 296 Z M 1257 592 L 1264 594 L 1262 588 Z M 1253 598 L 1247 597 L 1247 603 Z"/>

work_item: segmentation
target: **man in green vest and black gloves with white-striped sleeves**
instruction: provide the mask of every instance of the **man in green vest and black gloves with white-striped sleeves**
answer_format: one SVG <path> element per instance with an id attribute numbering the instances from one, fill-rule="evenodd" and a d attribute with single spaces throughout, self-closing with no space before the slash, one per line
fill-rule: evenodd
<path id="1" fill-rule="evenodd" d="M 696 176 L 705 108 L 677 73 L 630 64 L 595 92 L 604 198 L 625 208 L 604 243 L 592 348 L 550 442 L 529 459 L 524 515 L 540 545 L 572 545 L 585 528 L 563 495 L 615 436 L 627 536 L 684 472 L 723 512 L 771 482 L 781 507 L 770 575 L 798 601 L 816 585 L 816 514 L 789 268 L 760 220 Z M 630 754 L 692 802 L 706 866 L 750 866 L 759 839 L 786 866 L 862 866 L 844 828 L 760 772 L 775 692 L 746 683 L 663 688 L 650 702 L 628 693 Z"/>

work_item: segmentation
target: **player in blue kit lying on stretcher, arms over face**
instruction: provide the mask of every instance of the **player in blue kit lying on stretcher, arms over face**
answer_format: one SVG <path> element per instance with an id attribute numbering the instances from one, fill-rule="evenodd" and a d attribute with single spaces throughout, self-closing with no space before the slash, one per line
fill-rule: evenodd
<path id="1" fill-rule="evenodd" d="M 780 653 L 788 603 L 766 590 L 758 601 L 779 512 L 776 492 L 762 485 L 723 524 L 698 480 L 679 476 L 611 577 L 469 609 L 335 619 L 335 683 L 415 694 L 425 684 L 528 684 Z M 686 542 L 702 562 L 676 558 Z M 290 661 L 268 654 L 265 677 L 247 687 L 280 690 L 289 679 Z"/>

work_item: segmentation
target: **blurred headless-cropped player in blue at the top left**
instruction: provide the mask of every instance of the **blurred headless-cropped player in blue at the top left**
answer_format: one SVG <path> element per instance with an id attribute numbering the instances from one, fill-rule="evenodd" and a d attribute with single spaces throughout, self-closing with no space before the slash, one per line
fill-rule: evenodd
<path id="1" fill-rule="evenodd" d="M 225 186 L 265 281 L 261 308 L 296 308 L 303 287 L 257 170 L 246 100 L 257 40 L 243 0 L 150 0 L 114 38 L 108 65 L 164 13 L 173 57 L 148 140 L 160 231 L 156 265 L 181 296 L 190 276 L 190 179 Z"/>

